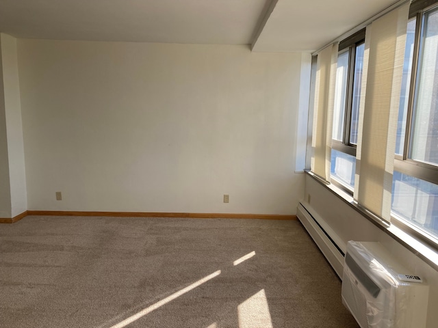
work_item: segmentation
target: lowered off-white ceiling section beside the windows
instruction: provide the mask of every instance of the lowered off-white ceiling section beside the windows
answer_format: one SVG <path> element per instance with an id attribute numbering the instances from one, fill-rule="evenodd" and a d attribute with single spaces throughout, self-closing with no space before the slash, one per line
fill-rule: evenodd
<path id="1" fill-rule="evenodd" d="M 253 51 L 315 51 L 395 0 L 279 0 Z"/>

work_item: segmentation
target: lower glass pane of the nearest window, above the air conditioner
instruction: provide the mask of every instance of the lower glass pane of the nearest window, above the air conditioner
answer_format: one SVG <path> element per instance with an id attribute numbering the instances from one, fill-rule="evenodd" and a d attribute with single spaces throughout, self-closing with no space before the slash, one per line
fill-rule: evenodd
<path id="1" fill-rule="evenodd" d="M 438 185 L 394 171 L 392 211 L 438 237 Z"/>

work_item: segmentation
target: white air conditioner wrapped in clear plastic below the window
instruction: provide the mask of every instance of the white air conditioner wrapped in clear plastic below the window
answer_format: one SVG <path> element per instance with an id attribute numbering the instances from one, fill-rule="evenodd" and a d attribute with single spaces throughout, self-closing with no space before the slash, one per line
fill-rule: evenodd
<path id="1" fill-rule="evenodd" d="M 424 328 L 428 285 L 410 273 L 380 243 L 349 241 L 342 302 L 361 328 Z"/>

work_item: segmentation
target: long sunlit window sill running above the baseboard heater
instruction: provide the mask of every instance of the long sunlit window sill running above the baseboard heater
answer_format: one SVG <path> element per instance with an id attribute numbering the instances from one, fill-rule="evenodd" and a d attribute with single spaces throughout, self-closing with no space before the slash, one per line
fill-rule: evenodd
<path id="1" fill-rule="evenodd" d="M 337 195 L 337 197 L 339 197 L 340 200 L 348 204 L 348 206 L 357 210 L 358 213 L 365 217 L 365 219 L 368 219 L 368 221 L 372 222 L 377 228 L 381 229 L 383 232 L 391 236 L 391 238 L 394 238 L 396 241 L 398 241 L 398 243 L 409 249 L 411 252 L 413 252 L 413 254 L 429 264 L 430 267 L 433 267 L 433 269 L 438 271 L 438 250 L 435 247 L 428 245 L 428 243 L 422 241 L 421 238 L 412 236 L 411 234 L 399 228 L 399 226 L 404 226 L 402 222 L 395 219 L 395 222 L 397 222 L 396 224 L 388 223 L 387 221 L 370 213 L 365 208 L 359 206 L 359 204 L 355 202 L 351 195 L 349 195 L 339 187 L 336 187 L 334 184 L 330 184 L 329 182 L 322 180 L 309 170 L 305 170 L 305 173 L 311 176 L 314 180 L 318 181 L 324 187 L 326 187 L 326 189 L 329 189 L 329 191 L 331 191 L 333 194 Z"/>

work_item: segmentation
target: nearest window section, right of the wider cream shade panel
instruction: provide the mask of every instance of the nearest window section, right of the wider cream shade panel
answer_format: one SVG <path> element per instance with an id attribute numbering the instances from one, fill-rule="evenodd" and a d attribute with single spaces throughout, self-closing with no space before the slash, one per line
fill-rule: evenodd
<path id="1" fill-rule="evenodd" d="M 419 11 L 407 29 L 391 210 L 438 238 L 438 5 L 430 2 L 411 5 Z"/>

